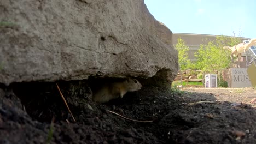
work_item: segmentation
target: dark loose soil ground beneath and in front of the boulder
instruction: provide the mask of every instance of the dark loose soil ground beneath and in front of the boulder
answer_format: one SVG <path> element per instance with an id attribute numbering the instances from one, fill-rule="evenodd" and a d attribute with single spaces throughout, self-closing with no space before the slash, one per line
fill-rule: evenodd
<path id="1" fill-rule="evenodd" d="M 256 143 L 254 107 L 223 101 L 218 89 L 180 92 L 144 87 L 123 99 L 97 104 L 89 100 L 86 82 L 58 84 L 76 122 L 56 83 L 2 86 L 0 143 Z M 255 89 L 250 91 L 255 94 Z M 191 104 L 203 100 L 215 102 Z"/>

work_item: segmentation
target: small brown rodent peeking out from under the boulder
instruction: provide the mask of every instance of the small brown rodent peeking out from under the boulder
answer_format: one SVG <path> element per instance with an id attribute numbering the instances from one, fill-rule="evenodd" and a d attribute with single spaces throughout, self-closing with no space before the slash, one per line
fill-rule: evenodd
<path id="1" fill-rule="evenodd" d="M 138 91 L 142 88 L 138 80 L 127 78 L 121 82 L 113 82 L 104 85 L 92 96 L 92 100 L 98 103 L 107 103 L 109 100 L 123 98 L 126 92 Z"/>

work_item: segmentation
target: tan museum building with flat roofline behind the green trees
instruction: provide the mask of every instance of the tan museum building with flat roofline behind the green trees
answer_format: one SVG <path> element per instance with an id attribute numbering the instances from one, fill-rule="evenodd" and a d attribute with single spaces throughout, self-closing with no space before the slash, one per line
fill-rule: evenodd
<path id="1" fill-rule="evenodd" d="M 172 42 L 173 46 L 177 44 L 178 38 L 181 38 L 185 41 L 185 44 L 189 46 L 189 59 L 191 61 L 196 61 L 194 57 L 194 53 L 200 48 L 201 44 L 207 44 L 209 40 L 216 40 L 218 35 L 210 35 L 210 34 L 191 34 L 191 33 L 173 33 Z M 229 36 L 227 36 L 229 37 Z M 250 38 L 241 38 L 241 43 L 243 40 L 248 40 Z M 243 56 L 241 59 L 241 68 L 246 67 L 246 57 Z"/>

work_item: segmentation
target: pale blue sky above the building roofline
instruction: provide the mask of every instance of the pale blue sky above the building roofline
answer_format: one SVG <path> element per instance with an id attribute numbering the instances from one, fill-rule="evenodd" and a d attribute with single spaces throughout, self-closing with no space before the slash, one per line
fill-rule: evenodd
<path id="1" fill-rule="evenodd" d="M 256 38 L 255 0 L 144 0 L 156 20 L 173 33 Z"/>

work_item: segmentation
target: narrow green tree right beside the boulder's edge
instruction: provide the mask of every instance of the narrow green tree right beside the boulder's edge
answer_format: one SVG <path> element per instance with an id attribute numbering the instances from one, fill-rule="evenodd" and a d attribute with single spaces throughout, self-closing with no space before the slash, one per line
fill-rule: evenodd
<path id="1" fill-rule="evenodd" d="M 182 70 L 188 69 L 191 67 L 191 62 L 188 59 L 188 45 L 185 45 L 185 41 L 181 38 L 178 39 L 178 43 L 175 45 L 175 49 L 179 52 L 179 67 Z"/>

